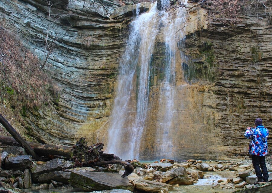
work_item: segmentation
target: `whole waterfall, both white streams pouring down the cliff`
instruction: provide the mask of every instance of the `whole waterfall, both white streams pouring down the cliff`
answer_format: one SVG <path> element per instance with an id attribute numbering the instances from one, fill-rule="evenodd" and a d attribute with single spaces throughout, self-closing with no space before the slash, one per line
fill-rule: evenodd
<path id="1" fill-rule="evenodd" d="M 170 5 L 169 0 L 162 0 L 162 5 Z M 183 38 L 181 24 L 185 23 L 183 8 L 174 14 L 162 14 L 157 10 L 157 3 L 151 9 L 139 15 L 137 4 L 136 18 L 130 24 L 125 52 L 119 68 L 118 85 L 112 111 L 112 122 L 108 130 L 107 151 L 121 159 L 139 159 L 139 149 L 146 117 L 149 110 L 150 74 L 155 39 L 162 31 L 165 42 L 164 79 L 160 83 L 160 113 L 157 128 L 157 144 L 160 156 L 172 156 L 172 119 L 176 86 L 177 43 Z"/>

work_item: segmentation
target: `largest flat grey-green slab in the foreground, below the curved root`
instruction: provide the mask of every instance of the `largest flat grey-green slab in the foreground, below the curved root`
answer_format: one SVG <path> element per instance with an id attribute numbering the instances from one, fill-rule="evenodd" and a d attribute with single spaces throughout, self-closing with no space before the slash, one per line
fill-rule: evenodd
<path id="1" fill-rule="evenodd" d="M 122 189 L 133 191 L 134 186 L 129 183 L 128 178 L 122 178 L 117 173 L 103 172 L 72 172 L 70 183 L 83 190 L 111 190 Z"/>

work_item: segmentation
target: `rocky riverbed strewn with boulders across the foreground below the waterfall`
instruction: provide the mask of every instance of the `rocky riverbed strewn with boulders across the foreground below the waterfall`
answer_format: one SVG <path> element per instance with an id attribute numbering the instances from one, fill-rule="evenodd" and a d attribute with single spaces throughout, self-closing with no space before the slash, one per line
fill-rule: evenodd
<path id="1" fill-rule="evenodd" d="M 163 159 L 156 162 L 130 161 L 134 171 L 126 178 L 121 178 L 125 169 L 120 165 L 107 167 L 74 168 L 74 163 L 55 158 L 47 162 L 36 162 L 21 147 L 8 147 L 1 153 L 0 185 L 10 192 L 88 192 L 99 190 L 105 193 L 159 192 L 233 192 L 238 188 L 250 187 L 253 181 L 246 177 L 254 175 L 251 160 L 183 160 Z M 267 159 L 267 168 L 272 172 L 272 159 Z M 92 188 L 79 185 L 74 179 L 81 174 L 91 175 L 97 181 Z M 99 172 L 99 173 L 98 173 Z M 73 175 L 71 175 L 71 173 Z M 96 176 L 103 175 L 105 180 L 99 182 Z M 272 180 L 272 173 L 270 174 Z M 98 178 L 98 177 L 97 177 Z M 109 182 L 107 182 L 107 180 Z M 118 180 L 122 181 L 119 182 Z M 79 180 L 80 181 L 80 180 Z M 84 181 L 84 180 L 83 180 Z M 116 183 L 114 182 L 116 181 Z M 118 182 L 117 182 L 118 181 Z M 108 189 L 103 182 L 114 184 Z M 85 181 L 86 183 L 86 181 Z M 118 184 L 121 183 L 121 184 Z M 123 183 L 123 184 L 122 184 Z M 124 185 L 124 183 L 127 183 Z M 72 184 L 72 185 L 71 185 Z M 104 188 L 104 189 L 103 189 Z M 121 190 L 124 189 L 124 190 Z M 105 191 L 104 191 L 105 190 Z"/>

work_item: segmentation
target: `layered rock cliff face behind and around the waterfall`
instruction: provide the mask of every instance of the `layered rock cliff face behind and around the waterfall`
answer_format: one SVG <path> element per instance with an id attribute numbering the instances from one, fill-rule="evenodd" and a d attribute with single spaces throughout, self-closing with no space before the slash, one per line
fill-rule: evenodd
<path id="1" fill-rule="evenodd" d="M 2 24 L 24 38 L 41 58 L 47 32 L 49 38 L 57 37 L 46 67 L 53 69 L 62 91 L 52 104 L 27 113 L 29 134 L 43 143 L 72 144 L 81 136 L 89 143 L 107 143 L 118 64 L 136 5 L 123 6 L 115 0 L 62 1 L 51 7 L 48 27 L 45 2 L 0 1 Z M 140 11 L 149 7 L 149 2 L 142 3 Z M 186 56 L 186 62 L 176 65 L 172 123 L 176 129 L 171 134 L 173 155 L 179 159 L 246 154 L 249 141 L 243 133 L 256 117 L 263 118 L 272 132 L 271 25 L 264 14 L 260 19 L 248 12 L 241 15 L 239 24 L 208 21 L 208 9 L 191 10 L 186 40 L 177 47 Z M 156 45 L 141 159 L 158 158 L 157 136 L 162 134 L 157 133 L 154 120 L 162 113 L 156 69 L 165 45 L 160 37 Z"/>

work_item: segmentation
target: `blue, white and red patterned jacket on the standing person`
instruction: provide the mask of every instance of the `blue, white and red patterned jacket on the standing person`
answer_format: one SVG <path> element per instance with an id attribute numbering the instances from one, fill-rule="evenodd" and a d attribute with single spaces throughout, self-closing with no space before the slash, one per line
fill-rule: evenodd
<path id="1" fill-rule="evenodd" d="M 244 137 L 251 139 L 249 144 L 249 154 L 265 156 L 267 154 L 268 135 L 269 131 L 262 125 L 258 125 L 252 130 L 247 129 L 244 133 Z"/>

